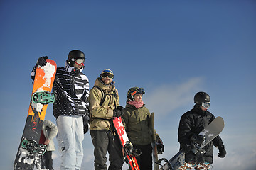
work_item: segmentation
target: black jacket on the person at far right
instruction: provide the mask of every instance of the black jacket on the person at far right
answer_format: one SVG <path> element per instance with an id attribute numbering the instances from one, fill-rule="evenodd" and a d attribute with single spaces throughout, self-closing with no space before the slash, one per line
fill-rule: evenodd
<path id="1" fill-rule="evenodd" d="M 191 145 L 190 137 L 193 134 L 198 134 L 203 130 L 206 125 L 215 119 L 214 115 L 209 111 L 202 111 L 201 106 L 194 106 L 191 111 L 184 113 L 181 116 L 181 120 L 178 127 L 178 142 L 180 143 L 180 149 Z M 213 163 L 213 145 L 215 147 L 223 145 L 223 141 L 220 136 L 215 137 L 213 141 L 208 143 L 203 149 L 206 151 L 205 154 L 198 152 L 187 152 L 185 160 L 186 162 L 208 162 Z"/>

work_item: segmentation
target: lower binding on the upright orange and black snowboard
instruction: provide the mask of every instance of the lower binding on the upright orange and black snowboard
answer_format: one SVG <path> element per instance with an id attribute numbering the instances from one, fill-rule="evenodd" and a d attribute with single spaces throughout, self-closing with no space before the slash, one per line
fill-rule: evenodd
<path id="1" fill-rule="evenodd" d="M 21 141 L 21 147 L 26 149 L 30 154 L 42 155 L 46 152 L 46 145 L 39 145 L 38 142 L 28 140 L 25 137 Z"/>

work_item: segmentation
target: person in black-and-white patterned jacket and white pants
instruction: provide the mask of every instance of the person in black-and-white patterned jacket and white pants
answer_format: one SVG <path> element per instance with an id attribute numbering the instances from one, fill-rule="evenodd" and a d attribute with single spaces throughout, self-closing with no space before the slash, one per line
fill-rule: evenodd
<path id="1" fill-rule="evenodd" d="M 36 67 L 46 65 L 48 57 L 39 57 L 31 72 L 33 79 Z M 82 73 L 85 54 L 72 50 L 65 67 L 58 67 L 53 83 L 55 103 L 53 115 L 58 127 L 58 145 L 61 152 L 60 169 L 80 169 L 83 158 L 82 140 L 88 130 L 89 80 Z"/>

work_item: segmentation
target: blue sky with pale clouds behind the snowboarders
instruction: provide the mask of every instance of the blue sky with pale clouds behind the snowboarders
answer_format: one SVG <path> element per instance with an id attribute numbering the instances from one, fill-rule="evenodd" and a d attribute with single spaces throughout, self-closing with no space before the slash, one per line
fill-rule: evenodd
<path id="1" fill-rule="evenodd" d="M 0 26 L 1 169 L 14 162 L 36 60 L 48 55 L 63 67 L 74 49 L 85 52 L 90 88 L 103 69 L 112 69 L 122 106 L 130 87 L 144 87 L 165 145 L 159 157 L 178 152 L 178 121 L 194 94 L 206 91 L 209 111 L 225 120 L 220 136 L 228 152 L 220 159 L 215 149 L 213 167 L 256 166 L 255 1 L 1 0 Z M 51 105 L 46 119 L 55 121 Z M 90 134 L 83 145 L 82 169 L 93 169 Z M 58 150 L 53 164 L 59 167 Z"/>

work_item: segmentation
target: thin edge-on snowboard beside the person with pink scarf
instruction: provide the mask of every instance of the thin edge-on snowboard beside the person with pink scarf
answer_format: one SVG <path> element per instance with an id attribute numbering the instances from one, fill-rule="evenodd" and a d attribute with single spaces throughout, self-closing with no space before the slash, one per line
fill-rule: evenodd
<path id="1" fill-rule="evenodd" d="M 152 134 L 153 141 L 151 142 L 153 148 L 153 162 L 154 162 L 154 170 L 159 170 L 158 156 L 157 156 L 157 147 L 156 147 L 156 133 L 154 129 L 154 113 L 151 113 L 149 117 L 149 129 Z"/>

